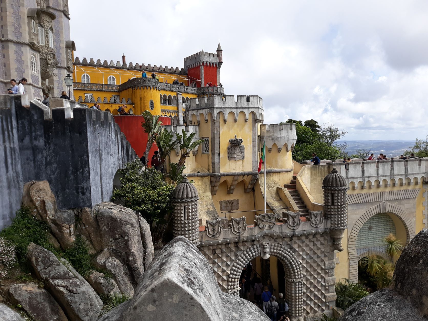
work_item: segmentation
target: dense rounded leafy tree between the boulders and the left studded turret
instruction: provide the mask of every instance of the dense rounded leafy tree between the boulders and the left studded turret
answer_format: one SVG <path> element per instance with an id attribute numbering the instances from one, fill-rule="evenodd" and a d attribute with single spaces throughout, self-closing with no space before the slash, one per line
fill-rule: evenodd
<path id="1" fill-rule="evenodd" d="M 149 223 L 153 241 L 160 242 L 171 218 L 174 185 L 166 183 L 162 173 L 154 167 L 143 170 L 139 160 L 119 169 L 119 174 L 122 176 L 121 187 L 113 190 L 113 201 L 144 217 Z"/>

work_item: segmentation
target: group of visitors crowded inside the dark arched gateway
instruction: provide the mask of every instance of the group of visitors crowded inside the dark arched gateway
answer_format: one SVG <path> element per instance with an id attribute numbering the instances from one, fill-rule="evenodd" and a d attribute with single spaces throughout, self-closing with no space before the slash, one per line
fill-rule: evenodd
<path id="1" fill-rule="evenodd" d="M 251 278 L 252 273 L 253 265 L 249 263 L 244 267 L 239 280 L 240 297 L 248 299 L 250 292 L 253 292 L 254 303 L 268 315 L 271 321 L 289 321 L 285 315 L 285 312 L 288 311 L 288 304 L 285 302 L 284 295 L 279 293 L 279 299 L 276 301 L 272 282 L 268 280 L 266 285 L 263 285 L 262 279 L 257 273 L 254 273 Z"/>

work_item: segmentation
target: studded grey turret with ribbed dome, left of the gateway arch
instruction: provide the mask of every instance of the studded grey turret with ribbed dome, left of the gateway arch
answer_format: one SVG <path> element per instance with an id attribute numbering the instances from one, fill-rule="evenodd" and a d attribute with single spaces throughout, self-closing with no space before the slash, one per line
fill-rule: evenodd
<path id="1" fill-rule="evenodd" d="M 199 244 L 198 191 L 187 178 L 175 187 L 172 195 L 172 234 Z"/>

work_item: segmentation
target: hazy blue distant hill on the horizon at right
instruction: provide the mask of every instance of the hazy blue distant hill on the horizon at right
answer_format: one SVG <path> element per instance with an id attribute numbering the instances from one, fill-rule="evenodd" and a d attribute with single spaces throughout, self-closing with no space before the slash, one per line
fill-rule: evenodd
<path id="1" fill-rule="evenodd" d="M 357 149 L 368 149 L 375 155 L 383 153 L 387 157 L 399 156 L 415 145 L 414 140 L 338 140 L 337 143 L 347 143 L 345 151 L 349 155 L 355 154 Z"/>

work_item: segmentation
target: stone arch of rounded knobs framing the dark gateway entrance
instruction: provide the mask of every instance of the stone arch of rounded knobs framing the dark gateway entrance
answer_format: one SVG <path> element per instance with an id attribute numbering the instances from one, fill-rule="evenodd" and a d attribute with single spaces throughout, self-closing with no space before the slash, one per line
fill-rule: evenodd
<path id="1" fill-rule="evenodd" d="M 289 313 L 292 317 L 303 315 L 303 273 L 300 261 L 282 244 L 273 243 L 262 237 L 252 247 L 244 250 L 233 263 L 227 280 L 227 292 L 239 296 L 239 279 L 244 267 L 254 258 L 262 256 L 268 259 L 276 256 L 282 263 L 285 274 L 285 300 L 288 303 Z"/>

